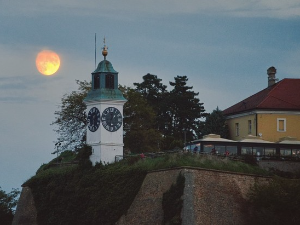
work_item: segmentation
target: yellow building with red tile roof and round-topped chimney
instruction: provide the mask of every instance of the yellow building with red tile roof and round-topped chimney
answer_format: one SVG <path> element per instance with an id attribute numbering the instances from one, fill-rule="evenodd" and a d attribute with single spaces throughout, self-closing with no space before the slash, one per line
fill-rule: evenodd
<path id="1" fill-rule="evenodd" d="M 276 69 L 268 69 L 268 87 L 223 111 L 230 139 L 248 135 L 278 142 L 283 137 L 300 140 L 300 79 L 275 82 Z"/>

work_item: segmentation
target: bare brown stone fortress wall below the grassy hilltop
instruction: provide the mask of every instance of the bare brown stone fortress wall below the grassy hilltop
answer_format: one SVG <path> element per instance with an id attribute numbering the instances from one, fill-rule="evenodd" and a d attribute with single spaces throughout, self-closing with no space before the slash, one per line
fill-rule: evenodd
<path id="1" fill-rule="evenodd" d="M 126 215 L 117 225 L 161 225 L 162 198 L 177 176 L 185 176 L 182 224 L 246 224 L 249 215 L 246 199 L 255 182 L 268 182 L 269 177 L 181 167 L 149 172 Z M 34 225 L 36 209 L 33 196 L 24 187 L 13 225 Z"/>

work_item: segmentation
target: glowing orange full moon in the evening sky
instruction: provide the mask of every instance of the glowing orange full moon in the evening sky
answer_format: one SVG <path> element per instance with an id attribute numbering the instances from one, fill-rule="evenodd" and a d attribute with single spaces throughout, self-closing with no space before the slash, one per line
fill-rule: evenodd
<path id="1" fill-rule="evenodd" d="M 38 53 L 36 60 L 36 68 L 46 76 L 54 74 L 60 66 L 59 56 L 50 50 L 43 50 Z"/>

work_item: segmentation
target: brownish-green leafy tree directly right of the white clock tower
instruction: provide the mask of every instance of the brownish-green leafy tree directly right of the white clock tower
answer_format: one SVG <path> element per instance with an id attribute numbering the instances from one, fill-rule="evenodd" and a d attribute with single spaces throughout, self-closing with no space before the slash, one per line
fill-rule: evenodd
<path id="1" fill-rule="evenodd" d="M 155 129 L 155 112 L 134 89 L 121 87 L 127 102 L 124 105 L 124 145 L 132 152 L 158 150 L 161 134 Z"/>

